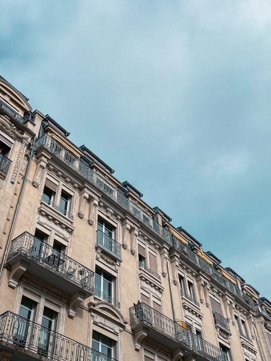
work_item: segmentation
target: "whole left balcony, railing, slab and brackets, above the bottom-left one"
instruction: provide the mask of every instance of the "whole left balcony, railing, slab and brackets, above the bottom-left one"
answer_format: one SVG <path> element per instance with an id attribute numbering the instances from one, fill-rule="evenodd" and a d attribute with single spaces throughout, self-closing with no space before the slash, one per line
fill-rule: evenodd
<path id="1" fill-rule="evenodd" d="M 83 298 L 93 294 L 94 273 L 90 269 L 28 232 L 12 241 L 7 263 L 13 288 L 27 271 L 68 294 L 80 292 Z"/>

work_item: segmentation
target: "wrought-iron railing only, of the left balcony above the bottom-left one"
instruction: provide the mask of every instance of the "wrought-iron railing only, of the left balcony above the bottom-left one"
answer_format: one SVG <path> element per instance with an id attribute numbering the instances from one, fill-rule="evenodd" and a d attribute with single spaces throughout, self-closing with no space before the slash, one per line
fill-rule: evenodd
<path id="1" fill-rule="evenodd" d="M 50 266 L 63 277 L 80 284 L 82 288 L 90 291 L 94 288 L 93 271 L 28 232 L 24 232 L 12 241 L 8 262 L 18 253 L 25 253 L 28 258 Z"/>

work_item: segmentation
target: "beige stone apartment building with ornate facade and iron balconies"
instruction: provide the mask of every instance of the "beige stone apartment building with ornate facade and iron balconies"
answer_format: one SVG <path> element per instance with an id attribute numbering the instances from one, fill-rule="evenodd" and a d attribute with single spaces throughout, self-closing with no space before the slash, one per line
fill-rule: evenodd
<path id="1" fill-rule="evenodd" d="M 0 77 L 0 360 L 270 361 L 271 303 Z"/>

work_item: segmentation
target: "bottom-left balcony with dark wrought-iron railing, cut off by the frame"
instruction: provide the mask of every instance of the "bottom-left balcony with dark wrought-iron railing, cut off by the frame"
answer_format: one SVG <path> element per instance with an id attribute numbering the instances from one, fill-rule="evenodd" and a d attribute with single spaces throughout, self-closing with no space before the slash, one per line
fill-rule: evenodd
<path id="1" fill-rule="evenodd" d="M 0 315 L 0 344 L 1 348 L 13 353 L 10 361 L 116 361 L 10 311 Z"/>

